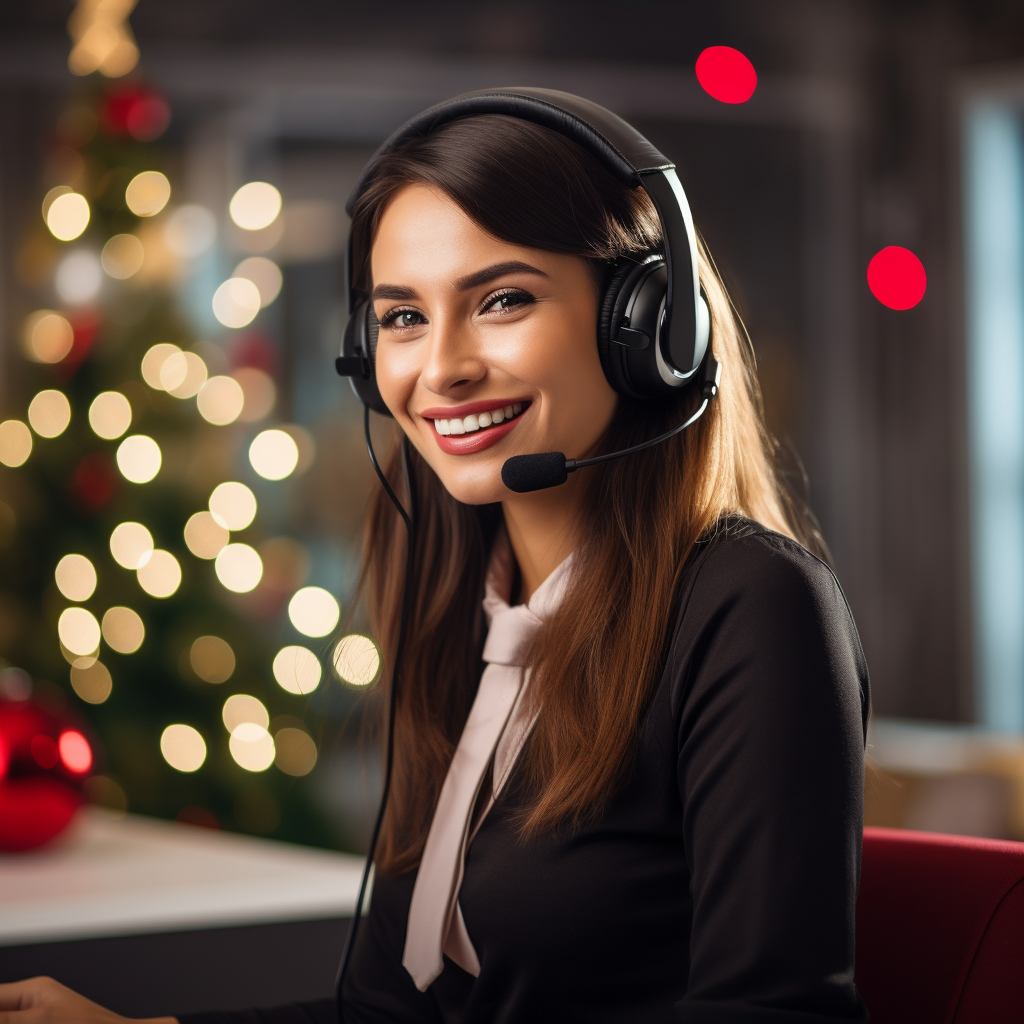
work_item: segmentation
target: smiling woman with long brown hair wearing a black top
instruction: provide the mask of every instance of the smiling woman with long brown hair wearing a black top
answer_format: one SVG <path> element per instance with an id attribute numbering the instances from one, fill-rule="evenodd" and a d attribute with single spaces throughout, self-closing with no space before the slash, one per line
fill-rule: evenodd
<path id="1" fill-rule="evenodd" d="M 388 475 L 418 517 L 393 784 L 346 1024 L 865 1019 L 866 668 L 773 473 L 753 357 L 703 252 L 722 367 L 703 416 L 560 486 L 502 482 L 512 456 L 614 452 L 692 414 L 691 388 L 616 393 L 595 344 L 609 275 L 659 251 L 658 223 L 646 193 L 584 148 L 503 115 L 407 140 L 353 209 L 353 275 L 415 496 L 397 452 Z M 364 579 L 388 656 L 399 526 L 379 492 Z M 0 1005 L 116 1019 L 22 986 L 0 986 Z"/>

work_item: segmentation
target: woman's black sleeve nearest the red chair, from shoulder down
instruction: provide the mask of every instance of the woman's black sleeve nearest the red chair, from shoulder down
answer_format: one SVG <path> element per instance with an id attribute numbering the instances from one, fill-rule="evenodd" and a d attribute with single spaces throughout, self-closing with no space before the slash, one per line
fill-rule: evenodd
<path id="1" fill-rule="evenodd" d="M 867 670 L 831 571 L 709 551 L 674 640 L 693 925 L 688 1024 L 863 1021 L 853 984 Z"/>

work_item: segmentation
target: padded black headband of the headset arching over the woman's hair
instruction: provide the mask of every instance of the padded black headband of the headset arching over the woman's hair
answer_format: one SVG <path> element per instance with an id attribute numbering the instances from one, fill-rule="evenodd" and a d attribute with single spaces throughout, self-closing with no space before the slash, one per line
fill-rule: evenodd
<path id="1" fill-rule="evenodd" d="M 374 154 L 345 204 L 352 206 L 373 177 L 381 157 L 407 139 L 429 135 L 441 125 L 476 114 L 505 114 L 550 128 L 571 139 L 599 160 L 624 184 L 640 185 L 651 198 L 665 237 L 668 269 L 666 310 L 671 316 L 668 355 L 673 373 L 690 377 L 703 357 L 703 339 L 697 337 L 696 310 L 700 300 L 697 279 L 696 236 L 686 194 L 676 165 L 659 153 L 632 125 L 610 111 L 580 96 L 555 89 L 480 89 L 445 100 L 406 122 Z M 349 257 L 351 242 L 349 242 Z M 349 258 L 345 287 L 349 309 L 353 306 L 352 265 Z M 683 301 L 675 301 L 686 296 Z"/>

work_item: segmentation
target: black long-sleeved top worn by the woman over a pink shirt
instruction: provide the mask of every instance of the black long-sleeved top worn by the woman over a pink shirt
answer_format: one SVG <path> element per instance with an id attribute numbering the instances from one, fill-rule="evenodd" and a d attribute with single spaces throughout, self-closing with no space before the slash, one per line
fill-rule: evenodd
<path id="1" fill-rule="evenodd" d="M 853 985 L 867 669 L 831 570 L 724 520 L 684 570 L 623 785 L 573 835 L 523 843 L 515 786 L 466 857 L 480 959 L 427 992 L 401 966 L 415 872 L 379 878 L 344 1024 L 824 1024 Z M 333 1000 L 182 1024 L 327 1024 Z"/>

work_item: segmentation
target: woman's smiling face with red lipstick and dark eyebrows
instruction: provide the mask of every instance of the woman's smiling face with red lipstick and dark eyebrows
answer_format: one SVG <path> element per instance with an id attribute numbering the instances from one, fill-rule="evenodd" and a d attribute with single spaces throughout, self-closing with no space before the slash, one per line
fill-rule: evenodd
<path id="1" fill-rule="evenodd" d="M 456 499 L 511 498 L 511 456 L 593 449 L 616 396 L 583 259 L 501 242 L 413 184 L 384 211 L 371 269 L 381 395 Z"/>

